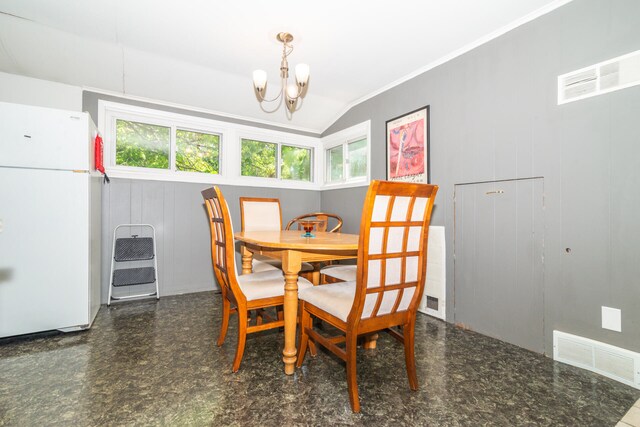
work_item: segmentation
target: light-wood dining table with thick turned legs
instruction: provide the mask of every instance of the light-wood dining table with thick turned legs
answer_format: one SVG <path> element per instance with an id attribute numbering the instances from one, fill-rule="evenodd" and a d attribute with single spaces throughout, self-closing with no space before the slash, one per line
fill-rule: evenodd
<path id="1" fill-rule="evenodd" d="M 284 372 L 291 375 L 296 363 L 296 317 L 298 314 L 298 273 L 303 262 L 321 262 L 356 258 L 358 235 L 314 232 L 303 237 L 300 230 L 244 231 L 234 234 L 243 243 L 242 274 L 251 273 L 253 254 L 282 261 L 284 272 Z"/>

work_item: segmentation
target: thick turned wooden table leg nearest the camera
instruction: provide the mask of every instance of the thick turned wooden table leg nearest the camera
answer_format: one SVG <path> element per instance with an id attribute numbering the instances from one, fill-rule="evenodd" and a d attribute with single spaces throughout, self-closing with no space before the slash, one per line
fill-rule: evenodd
<path id="1" fill-rule="evenodd" d="M 302 268 L 300 253 L 285 251 L 282 256 L 284 271 L 284 373 L 293 374 L 296 363 L 296 323 L 298 315 L 298 273 Z"/>

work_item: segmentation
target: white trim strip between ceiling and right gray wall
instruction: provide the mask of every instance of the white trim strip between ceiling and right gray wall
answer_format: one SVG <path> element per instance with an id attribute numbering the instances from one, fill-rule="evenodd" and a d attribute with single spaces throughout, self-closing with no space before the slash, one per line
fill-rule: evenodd
<path id="1" fill-rule="evenodd" d="M 363 96 L 361 98 L 356 99 L 355 101 L 347 104 L 344 108 L 342 108 L 342 110 L 340 110 L 340 112 L 337 115 L 334 116 L 333 120 L 331 120 L 329 122 L 329 124 L 324 128 L 323 132 L 325 132 L 327 129 L 329 129 L 340 117 L 345 115 L 347 113 L 347 111 L 349 111 L 353 107 L 355 107 L 355 106 L 357 106 L 359 104 L 362 104 L 363 102 L 365 102 L 365 101 L 367 101 L 367 100 L 369 100 L 369 99 L 371 99 L 371 98 L 373 98 L 373 97 L 375 97 L 377 95 L 380 95 L 381 93 L 386 92 L 389 89 L 393 89 L 394 87 L 399 86 L 402 83 L 404 83 L 404 82 L 406 82 L 408 80 L 411 80 L 414 77 L 419 76 L 420 74 L 426 73 L 427 71 L 432 70 L 432 69 L 436 68 L 439 65 L 442 65 L 442 64 L 444 64 L 446 62 L 449 62 L 452 59 L 457 58 L 458 56 L 461 56 L 461 55 L 463 55 L 463 54 L 465 54 L 465 53 L 467 53 L 467 52 L 469 52 L 469 51 L 471 51 L 471 50 L 473 50 L 473 49 L 475 49 L 475 48 L 477 48 L 479 46 L 482 46 L 483 44 L 488 43 L 491 40 L 493 40 L 495 38 L 498 38 L 501 35 L 506 34 L 509 31 L 520 27 L 521 25 L 526 24 L 527 22 L 533 21 L 534 19 L 537 19 L 537 18 L 539 18 L 539 17 L 541 17 L 543 15 L 546 15 L 547 13 L 552 12 L 552 11 L 554 11 L 555 9 L 557 9 L 557 8 L 559 8 L 561 6 L 564 6 L 565 4 L 570 3 L 571 1 L 573 1 L 573 0 L 555 0 L 555 1 L 545 5 L 543 7 L 541 7 L 540 9 L 537 9 L 537 10 L 535 10 L 535 11 L 533 11 L 533 12 L 531 12 L 531 13 L 529 13 L 529 14 L 527 14 L 527 15 L 519 18 L 519 19 L 516 19 L 515 21 L 505 25 L 502 28 L 498 28 L 497 30 L 492 31 L 489 34 L 480 37 L 479 39 L 477 39 L 477 40 L 475 40 L 475 41 L 473 41 L 473 42 L 461 47 L 460 49 L 454 50 L 453 52 L 451 52 L 451 53 L 449 53 L 447 55 L 444 55 L 444 56 L 440 57 L 439 59 L 436 59 L 435 61 L 433 61 L 433 62 L 431 62 L 431 63 L 429 63 L 429 64 L 427 64 L 427 65 L 425 65 L 423 67 L 420 67 L 417 70 L 415 70 L 415 71 L 413 71 L 413 72 L 411 72 L 411 73 L 409 73 L 409 74 L 407 74 L 407 75 L 405 75 L 403 77 L 400 77 L 396 81 L 393 81 L 393 82 L 391 82 L 391 83 L 389 83 L 387 85 L 382 86 L 381 88 L 379 88 L 377 90 L 374 90 L 373 92 L 369 93 L 368 95 L 365 95 L 365 96 Z"/>

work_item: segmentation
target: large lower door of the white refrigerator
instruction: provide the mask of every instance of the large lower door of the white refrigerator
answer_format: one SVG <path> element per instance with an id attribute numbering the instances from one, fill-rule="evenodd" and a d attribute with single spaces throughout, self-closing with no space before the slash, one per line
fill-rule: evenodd
<path id="1" fill-rule="evenodd" d="M 0 167 L 0 337 L 88 323 L 88 185 Z"/>

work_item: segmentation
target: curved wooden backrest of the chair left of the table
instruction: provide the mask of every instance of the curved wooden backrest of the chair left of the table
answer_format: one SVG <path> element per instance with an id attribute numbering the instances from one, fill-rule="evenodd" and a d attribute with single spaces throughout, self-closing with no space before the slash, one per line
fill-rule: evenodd
<path id="1" fill-rule="evenodd" d="M 236 304 L 241 300 L 246 302 L 236 276 L 233 225 L 229 206 L 218 187 L 203 190 L 202 197 L 209 214 L 211 261 L 222 296 Z"/>

